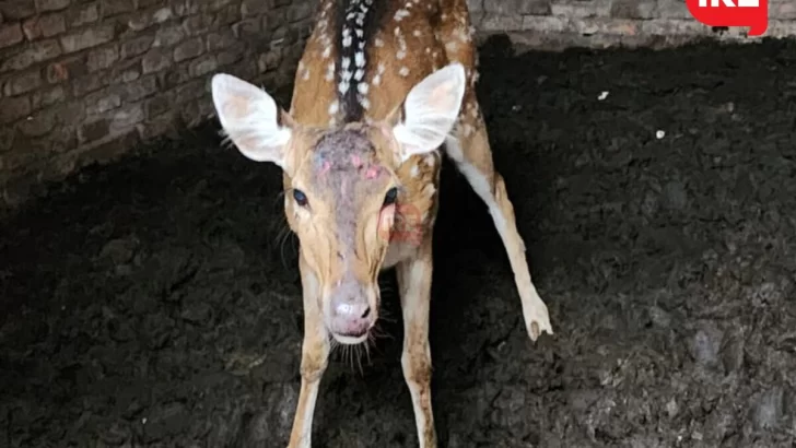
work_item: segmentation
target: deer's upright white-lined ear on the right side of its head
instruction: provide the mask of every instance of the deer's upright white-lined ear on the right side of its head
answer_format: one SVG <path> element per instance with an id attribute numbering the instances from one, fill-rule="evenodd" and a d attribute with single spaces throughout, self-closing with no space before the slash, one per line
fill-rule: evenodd
<path id="1" fill-rule="evenodd" d="M 459 116 L 465 87 L 465 68 L 454 62 L 425 76 L 409 91 L 388 119 L 399 143 L 400 163 L 443 144 Z"/>

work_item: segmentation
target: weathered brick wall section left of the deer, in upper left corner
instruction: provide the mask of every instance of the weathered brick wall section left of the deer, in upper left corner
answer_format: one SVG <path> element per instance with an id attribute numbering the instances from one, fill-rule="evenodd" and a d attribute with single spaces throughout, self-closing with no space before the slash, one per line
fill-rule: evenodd
<path id="1" fill-rule="evenodd" d="M 0 202 L 212 113 L 225 71 L 284 85 L 316 0 L 0 0 Z"/>

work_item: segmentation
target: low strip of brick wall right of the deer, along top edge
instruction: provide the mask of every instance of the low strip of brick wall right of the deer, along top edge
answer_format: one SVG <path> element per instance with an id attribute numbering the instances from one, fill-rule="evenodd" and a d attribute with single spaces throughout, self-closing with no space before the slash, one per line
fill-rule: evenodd
<path id="1" fill-rule="evenodd" d="M 468 0 L 481 36 L 506 33 L 545 49 L 668 47 L 705 37 L 753 42 L 746 28 L 714 32 L 691 17 L 684 0 Z M 796 0 L 769 0 L 765 36 L 796 35 Z"/>

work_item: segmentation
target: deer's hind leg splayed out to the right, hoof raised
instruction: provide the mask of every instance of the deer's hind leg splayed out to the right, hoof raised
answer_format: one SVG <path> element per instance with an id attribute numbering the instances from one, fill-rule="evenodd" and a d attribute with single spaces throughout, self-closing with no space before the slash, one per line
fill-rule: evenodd
<path id="1" fill-rule="evenodd" d="M 530 280 L 525 243 L 517 232 L 514 207 L 503 177 L 494 169 L 487 127 L 475 99 L 464 104 L 461 119 L 454 135 L 446 140 L 445 148 L 458 170 L 489 208 L 514 271 L 528 335 L 536 341 L 542 332 L 552 334 L 548 308 Z"/>

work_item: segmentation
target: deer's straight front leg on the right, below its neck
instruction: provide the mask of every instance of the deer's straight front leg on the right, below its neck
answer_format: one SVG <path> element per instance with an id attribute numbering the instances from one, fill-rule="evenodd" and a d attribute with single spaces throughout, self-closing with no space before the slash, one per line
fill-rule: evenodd
<path id="1" fill-rule="evenodd" d="M 431 300 L 431 236 L 417 256 L 396 266 L 403 314 L 401 367 L 414 409 L 420 448 L 436 448 L 434 414 L 431 409 L 431 349 L 429 307 Z"/>

